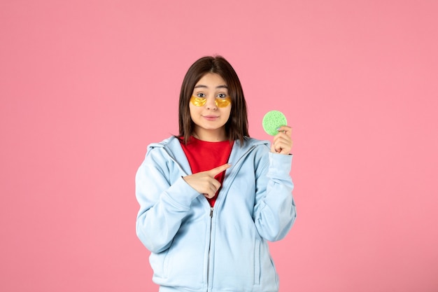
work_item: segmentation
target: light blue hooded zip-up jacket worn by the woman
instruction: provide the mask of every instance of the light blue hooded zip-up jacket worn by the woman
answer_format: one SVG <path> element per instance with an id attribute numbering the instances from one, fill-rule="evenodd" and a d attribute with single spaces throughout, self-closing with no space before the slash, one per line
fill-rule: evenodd
<path id="1" fill-rule="evenodd" d="M 292 155 L 246 138 L 235 141 L 229 163 L 213 209 L 184 181 L 192 172 L 177 138 L 148 146 L 136 173 L 136 233 L 160 292 L 278 291 L 267 241 L 295 221 Z"/>

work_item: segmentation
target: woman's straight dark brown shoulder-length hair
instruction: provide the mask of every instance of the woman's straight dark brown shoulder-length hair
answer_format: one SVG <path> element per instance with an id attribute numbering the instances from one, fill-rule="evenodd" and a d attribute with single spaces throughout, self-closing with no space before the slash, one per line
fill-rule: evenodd
<path id="1" fill-rule="evenodd" d="M 225 132 L 227 133 L 229 141 L 239 139 L 243 145 L 244 137 L 249 137 L 246 101 L 236 71 L 234 71 L 231 64 L 221 56 L 202 57 L 193 63 L 185 74 L 179 97 L 178 137 L 183 138 L 184 143 L 187 144 L 195 129 L 192 118 L 190 118 L 190 97 L 192 97 L 196 83 L 207 73 L 218 74 L 225 83 L 227 83 L 232 107 L 229 119 L 227 123 L 225 123 Z"/>

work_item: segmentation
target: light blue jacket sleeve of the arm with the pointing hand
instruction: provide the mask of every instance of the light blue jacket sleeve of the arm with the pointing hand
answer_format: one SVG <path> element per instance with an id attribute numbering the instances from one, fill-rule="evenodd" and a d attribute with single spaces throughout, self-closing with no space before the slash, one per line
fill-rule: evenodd
<path id="1" fill-rule="evenodd" d="M 136 172 L 136 199 L 140 204 L 136 234 L 153 253 L 169 248 L 192 200 L 199 195 L 182 176 L 171 181 L 167 163 L 160 155 L 148 152 Z"/>

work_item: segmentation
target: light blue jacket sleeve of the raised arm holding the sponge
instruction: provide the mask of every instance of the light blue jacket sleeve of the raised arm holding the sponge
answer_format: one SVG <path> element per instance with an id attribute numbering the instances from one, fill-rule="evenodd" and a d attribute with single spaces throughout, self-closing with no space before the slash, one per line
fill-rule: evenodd
<path id="1" fill-rule="evenodd" d="M 297 216 L 291 165 L 292 155 L 269 152 L 255 172 L 254 222 L 260 236 L 271 242 L 283 239 Z"/>

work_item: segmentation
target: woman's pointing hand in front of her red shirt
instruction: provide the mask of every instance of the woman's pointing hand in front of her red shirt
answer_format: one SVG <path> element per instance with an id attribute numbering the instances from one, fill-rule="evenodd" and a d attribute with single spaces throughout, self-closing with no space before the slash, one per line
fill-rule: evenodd
<path id="1" fill-rule="evenodd" d="M 199 193 L 202 193 L 205 197 L 210 199 L 216 195 L 216 192 L 220 188 L 220 182 L 214 177 L 229 167 L 231 167 L 231 165 L 227 163 L 207 170 L 206 172 L 198 172 L 197 174 L 183 176 L 183 179 L 189 184 L 189 186 L 195 188 Z"/>

